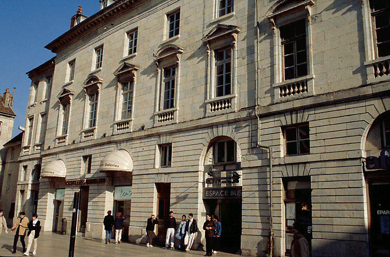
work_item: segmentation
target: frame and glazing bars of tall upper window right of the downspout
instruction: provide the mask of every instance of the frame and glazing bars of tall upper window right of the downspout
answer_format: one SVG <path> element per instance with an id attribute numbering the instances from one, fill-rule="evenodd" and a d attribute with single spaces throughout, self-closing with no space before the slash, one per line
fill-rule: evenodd
<path id="1" fill-rule="evenodd" d="M 304 34 L 299 34 L 299 35 L 296 35 L 295 34 L 295 30 L 296 30 L 296 27 L 297 27 L 297 24 L 300 23 L 300 22 L 303 22 L 304 23 L 304 31 L 305 33 Z M 283 39 L 282 38 L 282 29 L 283 28 L 286 28 L 286 27 L 289 27 L 289 26 L 294 26 L 294 36 L 292 36 L 291 38 L 288 38 L 288 39 Z M 284 24 L 282 26 L 279 27 L 279 31 L 280 31 L 280 44 L 281 44 L 281 52 L 282 52 L 282 81 L 289 81 L 289 80 L 294 80 L 294 79 L 298 79 L 298 78 L 302 78 L 302 77 L 305 77 L 308 75 L 308 72 L 309 72 L 309 67 L 308 67 L 308 46 L 307 46 L 307 31 L 306 31 L 306 19 L 299 19 L 299 20 L 295 20 L 293 22 L 290 22 L 290 23 L 287 23 L 287 24 Z M 297 42 L 300 41 L 300 40 L 303 40 L 305 42 L 305 49 L 304 50 L 297 50 Z M 293 44 L 293 53 L 289 53 L 289 54 L 285 54 L 285 46 L 288 45 L 288 44 Z M 305 52 L 305 62 L 301 62 L 301 63 L 297 63 L 297 56 L 299 53 L 302 53 L 302 52 Z M 285 66 L 285 57 L 286 56 L 291 56 L 293 55 L 293 65 L 292 66 Z M 304 75 L 300 75 L 298 76 L 298 66 L 300 65 L 303 65 L 305 64 L 306 66 L 306 72 Z M 294 68 L 294 76 L 293 78 L 288 78 L 286 79 L 286 69 L 289 69 L 289 68 Z"/>

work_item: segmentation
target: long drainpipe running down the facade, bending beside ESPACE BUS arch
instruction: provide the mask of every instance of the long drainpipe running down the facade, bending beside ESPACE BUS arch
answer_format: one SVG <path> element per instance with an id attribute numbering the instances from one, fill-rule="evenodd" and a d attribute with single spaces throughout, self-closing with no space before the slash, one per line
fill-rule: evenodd
<path id="1" fill-rule="evenodd" d="M 256 106 L 254 108 L 254 115 L 257 117 L 257 142 L 256 146 L 257 148 L 267 149 L 269 154 L 269 162 L 270 162 L 270 241 L 269 241 L 269 248 L 268 248 L 268 256 L 272 257 L 273 248 L 274 248 L 274 230 L 273 230 L 273 221 L 272 221 L 272 212 L 273 212 L 273 202 L 272 202 L 272 148 L 268 145 L 262 145 L 260 140 L 260 131 L 261 131 L 261 123 L 260 123 L 260 117 L 258 116 L 258 109 L 259 109 L 259 82 L 260 82 L 260 67 L 259 67 L 259 22 L 258 22 L 258 0 L 256 0 L 256 81 L 254 85 L 254 89 L 256 91 Z"/>

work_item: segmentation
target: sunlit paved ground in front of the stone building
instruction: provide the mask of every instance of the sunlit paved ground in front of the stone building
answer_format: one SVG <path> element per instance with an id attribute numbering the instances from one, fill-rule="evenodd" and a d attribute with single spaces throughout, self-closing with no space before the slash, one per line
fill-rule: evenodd
<path id="1" fill-rule="evenodd" d="M 0 256 L 24 256 L 20 240 L 16 254 L 12 254 L 12 245 L 15 232 L 8 234 L 4 231 L 0 236 Z M 62 236 L 51 232 L 42 232 L 38 238 L 37 254 L 35 256 L 68 256 L 70 236 Z M 25 242 L 27 245 L 27 237 Z M 111 240 L 112 241 L 112 240 Z M 83 237 L 76 238 L 75 256 L 203 256 L 205 251 L 181 252 L 178 250 L 167 250 L 160 247 L 146 247 L 130 243 L 105 244 L 103 240 L 89 239 Z M 32 256 L 32 247 L 30 249 Z M 229 253 L 218 252 L 213 256 L 237 256 Z"/>

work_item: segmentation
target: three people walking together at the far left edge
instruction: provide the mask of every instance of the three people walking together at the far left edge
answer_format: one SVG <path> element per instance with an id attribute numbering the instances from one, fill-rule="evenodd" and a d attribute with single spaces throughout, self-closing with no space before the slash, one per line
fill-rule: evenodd
<path id="1" fill-rule="evenodd" d="M 7 221 L 3 216 L 3 210 L 0 210 L 0 218 L 2 219 L 2 227 L 8 233 L 7 230 Z M 3 229 L 0 229 L 0 235 L 2 234 Z M 28 229 L 28 232 L 27 232 Z M 18 243 L 18 239 L 20 238 L 20 242 L 23 247 L 23 254 L 28 256 L 30 252 L 30 248 L 32 246 L 32 255 L 37 254 L 37 246 L 38 246 L 38 237 L 41 232 L 41 222 L 38 219 L 37 214 L 32 214 L 31 221 L 28 221 L 26 217 L 26 213 L 24 211 L 20 212 L 19 218 L 16 219 L 14 225 L 11 228 L 11 231 L 15 231 L 14 236 L 14 245 L 12 253 L 16 253 L 16 246 Z M 24 242 L 24 238 L 27 234 L 28 243 L 26 248 L 26 243 Z"/>

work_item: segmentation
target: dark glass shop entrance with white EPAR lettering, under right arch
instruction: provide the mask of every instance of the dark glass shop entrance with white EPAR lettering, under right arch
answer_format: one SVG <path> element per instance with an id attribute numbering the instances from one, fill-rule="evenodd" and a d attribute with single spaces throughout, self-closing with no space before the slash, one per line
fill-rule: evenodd
<path id="1" fill-rule="evenodd" d="M 369 182 L 371 209 L 371 256 L 390 256 L 390 202 L 388 201 L 389 193 L 389 178 L 381 178 L 376 179 L 376 181 L 371 180 Z"/>

